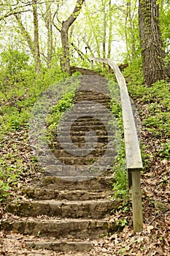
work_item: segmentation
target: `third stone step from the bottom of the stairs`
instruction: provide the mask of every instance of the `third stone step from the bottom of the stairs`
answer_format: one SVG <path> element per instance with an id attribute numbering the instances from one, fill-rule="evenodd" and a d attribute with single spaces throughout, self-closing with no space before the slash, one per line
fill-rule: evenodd
<path id="1" fill-rule="evenodd" d="M 120 203 L 115 200 L 39 200 L 9 203 L 7 211 L 20 217 L 38 217 L 45 215 L 60 218 L 103 219 L 111 214 Z"/>

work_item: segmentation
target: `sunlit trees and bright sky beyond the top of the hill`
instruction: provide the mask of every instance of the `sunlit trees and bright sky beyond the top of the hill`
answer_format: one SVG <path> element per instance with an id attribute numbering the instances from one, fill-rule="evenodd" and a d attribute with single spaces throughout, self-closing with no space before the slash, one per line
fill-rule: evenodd
<path id="1" fill-rule="evenodd" d="M 169 76 L 169 1 L 8 0 L 0 12 L 2 67 L 13 54 L 29 56 L 36 73 L 56 65 L 70 72 L 96 56 L 143 63 L 148 86 Z"/>

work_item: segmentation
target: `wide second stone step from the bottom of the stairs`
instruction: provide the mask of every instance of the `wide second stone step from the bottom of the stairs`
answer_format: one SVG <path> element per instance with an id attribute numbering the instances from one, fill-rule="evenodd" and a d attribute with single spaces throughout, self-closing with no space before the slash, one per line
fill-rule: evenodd
<path id="1" fill-rule="evenodd" d="M 1 222 L 6 231 L 18 232 L 29 236 L 55 238 L 97 239 L 119 229 L 115 222 L 97 219 L 10 219 Z"/>

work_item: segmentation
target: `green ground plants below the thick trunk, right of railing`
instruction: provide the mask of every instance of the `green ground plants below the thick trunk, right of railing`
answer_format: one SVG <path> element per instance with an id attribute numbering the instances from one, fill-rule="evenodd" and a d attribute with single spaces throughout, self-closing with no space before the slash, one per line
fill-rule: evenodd
<path id="1" fill-rule="evenodd" d="M 140 99 L 143 105 L 146 105 L 148 112 L 144 115 L 142 124 L 154 135 L 170 134 L 169 89 L 169 83 L 164 80 L 158 81 L 151 87 L 128 83 L 128 91 L 131 97 Z"/>

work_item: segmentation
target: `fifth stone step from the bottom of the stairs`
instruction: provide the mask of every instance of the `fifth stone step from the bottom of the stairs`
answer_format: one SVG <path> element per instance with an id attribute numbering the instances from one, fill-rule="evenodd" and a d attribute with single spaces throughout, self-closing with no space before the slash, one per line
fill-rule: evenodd
<path id="1" fill-rule="evenodd" d="M 66 177 L 65 177 L 66 178 Z M 69 181 L 69 178 L 71 179 Z M 80 177 L 81 178 L 81 177 Z M 54 176 L 46 176 L 35 178 L 34 182 L 36 188 L 46 188 L 52 190 L 87 190 L 87 191 L 96 191 L 96 190 L 106 190 L 112 189 L 112 184 L 115 182 L 113 176 L 98 176 L 97 178 L 86 179 L 83 181 L 72 181 L 72 177 L 68 176 L 68 180 L 63 178 L 57 178 Z"/>

